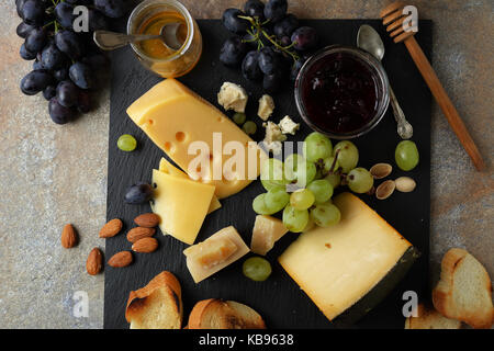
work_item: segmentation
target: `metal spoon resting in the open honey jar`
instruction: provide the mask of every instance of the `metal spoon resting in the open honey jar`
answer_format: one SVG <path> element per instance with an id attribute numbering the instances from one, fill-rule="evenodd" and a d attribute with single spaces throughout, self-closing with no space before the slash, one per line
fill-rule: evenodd
<path id="1" fill-rule="evenodd" d="M 178 29 L 181 23 L 167 23 L 159 31 L 159 35 L 147 34 L 123 34 L 109 31 L 96 31 L 94 43 L 103 50 L 113 50 L 131 43 L 160 39 L 170 50 L 178 50 L 183 43 L 177 37 Z"/>

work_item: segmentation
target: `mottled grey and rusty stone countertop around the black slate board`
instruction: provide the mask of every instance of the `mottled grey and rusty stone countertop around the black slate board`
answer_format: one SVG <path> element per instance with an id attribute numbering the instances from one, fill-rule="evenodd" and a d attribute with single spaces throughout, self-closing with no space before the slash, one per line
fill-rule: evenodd
<path id="1" fill-rule="evenodd" d="M 239 0 L 183 0 L 198 19 L 220 18 Z M 385 0 L 289 0 L 300 18 L 377 19 Z M 434 63 L 487 170 L 472 166 L 440 110 L 433 114 L 431 273 L 450 247 L 467 248 L 494 275 L 494 2 L 420 0 L 419 16 L 434 21 Z M 0 2 L 0 328 L 101 328 L 103 274 L 85 262 L 103 242 L 109 89 L 98 109 L 63 127 L 52 123 L 43 97 L 23 95 L 32 63 L 19 56 L 14 0 Z M 60 246 L 72 223 L 77 248 Z M 88 317 L 74 316 L 75 293 L 87 292 Z"/>

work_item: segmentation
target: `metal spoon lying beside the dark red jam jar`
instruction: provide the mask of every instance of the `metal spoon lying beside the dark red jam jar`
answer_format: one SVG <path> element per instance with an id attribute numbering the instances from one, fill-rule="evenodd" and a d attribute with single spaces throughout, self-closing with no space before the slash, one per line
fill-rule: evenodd
<path id="1" fill-rule="evenodd" d="M 379 60 L 382 60 L 384 57 L 384 44 L 379 36 L 379 33 L 375 32 L 375 30 L 370 25 L 363 24 L 360 26 L 357 35 L 357 46 L 364 49 Z M 393 107 L 394 118 L 397 123 L 397 134 L 402 139 L 409 139 L 414 134 L 414 128 L 408 121 L 406 121 L 405 114 L 397 102 L 393 89 L 391 86 L 389 88 L 391 106 Z"/>

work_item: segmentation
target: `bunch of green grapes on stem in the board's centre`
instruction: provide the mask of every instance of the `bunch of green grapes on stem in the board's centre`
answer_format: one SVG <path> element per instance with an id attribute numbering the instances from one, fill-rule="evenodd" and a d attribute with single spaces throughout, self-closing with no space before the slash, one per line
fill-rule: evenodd
<path id="1" fill-rule="evenodd" d="M 252 208 L 260 215 L 282 212 L 284 226 L 302 233 L 313 224 L 337 225 L 339 208 L 332 199 L 335 190 L 348 185 L 350 191 L 370 193 L 372 174 L 358 167 L 359 150 L 349 140 L 333 146 L 325 135 L 314 132 L 304 140 L 303 154 L 291 154 L 284 161 L 267 159 L 261 167 L 261 184 L 266 193 L 254 199 Z"/>

